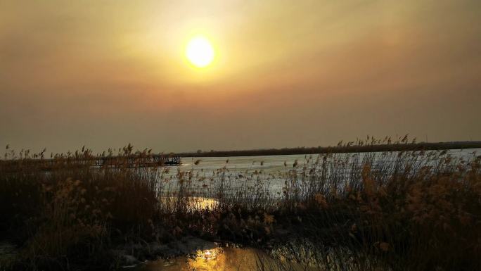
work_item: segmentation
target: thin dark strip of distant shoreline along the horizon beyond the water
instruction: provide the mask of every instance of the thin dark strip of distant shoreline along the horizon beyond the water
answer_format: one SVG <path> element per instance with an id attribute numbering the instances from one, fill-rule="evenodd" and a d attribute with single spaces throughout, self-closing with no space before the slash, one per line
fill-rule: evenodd
<path id="1" fill-rule="evenodd" d="M 376 151 L 421 151 L 421 150 L 448 150 L 448 149 L 476 149 L 481 148 L 481 141 L 454 141 L 454 142 L 420 142 L 400 144 L 374 144 L 364 146 L 328 146 L 328 147 L 299 147 L 283 149 L 258 149 L 243 151 L 197 151 L 173 153 L 179 157 L 229 157 L 229 156 L 282 156 L 291 154 L 315 153 L 364 153 Z"/>

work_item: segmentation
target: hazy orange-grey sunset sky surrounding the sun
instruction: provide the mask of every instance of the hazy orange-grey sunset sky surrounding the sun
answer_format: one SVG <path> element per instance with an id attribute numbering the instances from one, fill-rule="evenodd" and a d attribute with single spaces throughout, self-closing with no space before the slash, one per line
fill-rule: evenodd
<path id="1" fill-rule="evenodd" d="M 480 116 L 479 0 L 0 1 L 0 146 L 480 140 Z"/>

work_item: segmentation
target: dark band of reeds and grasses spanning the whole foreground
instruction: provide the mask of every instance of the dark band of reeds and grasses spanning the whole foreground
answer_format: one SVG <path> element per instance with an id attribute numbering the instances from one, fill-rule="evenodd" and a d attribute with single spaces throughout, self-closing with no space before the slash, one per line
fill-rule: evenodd
<path id="1" fill-rule="evenodd" d="M 292 262 L 321 270 L 481 270 L 476 154 L 323 153 L 286 164 L 281 176 L 204 172 L 198 163 L 169 172 L 78 162 L 91 156 L 85 149 L 56 156 L 58 168 L 46 172 L 30 153 L 7 150 L 0 239 L 19 253 L 0 260 L 0 270 L 115 270 L 122 259 L 114 248 L 185 236 L 286 259 L 282 266 L 260 260 L 259 270 L 288 270 Z M 116 159 L 127 156 L 131 146 Z"/>

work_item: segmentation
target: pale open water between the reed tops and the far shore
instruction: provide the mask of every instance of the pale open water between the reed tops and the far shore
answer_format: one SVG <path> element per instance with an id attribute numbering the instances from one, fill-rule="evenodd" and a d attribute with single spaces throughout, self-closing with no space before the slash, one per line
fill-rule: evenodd
<path id="1" fill-rule="evenodd" d="M 475 153 L 479 155 L 481 149 L 454 149 L 447 151 L 453 158 L 463 158 L 470 160 Z M 337 153 L 340 160 L 349 157 L 349 163 L 362 163 L 364 158 L 385 156 L 378 161 L 380 166 L 385 166 L 389 159 L 396 159 L 397 152 L 392 153 Z M 445 156 L 443 156 L 445 157 Z M 172 178 L 174 183 L 176 180 L 177 171 L 191 172 L 194 180 L 214 179 L 219 181 L 222 179 L 224 184 L 230 189 L 239 189 L 242 185 L 254 184 L 262 180 L 263 187 L 268 187 L 272 196 L 280 196 L 282 189 L 286 182 L 286 174 L 292 170 L 302 172 L 304 168 L 314 167 L 318 154 L 307 155 L 285 155 L 285 156 L 234 156 L 234 157 L 199 157 L 199 158 L 182 158 L 182 165 L 169 167 L 169 172 L 163 177 L 165 179 Z M 195 165 L 196 161 L 199 161 Z M 294 167 L 294 165 L 297 165 Z M 375 165 L 373 165 L 375 166 Z M 346 169 L 348 170 L 349 167 Z M 219 169 L 221 169 L 219 171 Z M 334 170 L 333 168 L 329 170 Z M 346 177 L 349 171 L 345 171 Z M 211 185 L 212 182 L 195 182 L 198 191 L 202 190 L 205 184 Z M 217 182 L 218 184 L 219 182 Z M 169 184 L 167 190 L 176 190 L 175 184 Z"/>

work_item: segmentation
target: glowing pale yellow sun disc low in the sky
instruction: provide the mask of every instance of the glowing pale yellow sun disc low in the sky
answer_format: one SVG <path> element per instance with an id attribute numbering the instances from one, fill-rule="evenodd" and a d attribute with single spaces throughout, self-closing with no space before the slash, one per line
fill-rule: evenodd
<path id="1" fill-rule="evenodd" d="M 186 46 L 186 58 L 197 68 L 204 68 L 214 60 L 215 52 L 209 39 L 196 36 Z"/>

